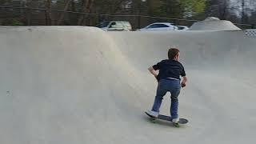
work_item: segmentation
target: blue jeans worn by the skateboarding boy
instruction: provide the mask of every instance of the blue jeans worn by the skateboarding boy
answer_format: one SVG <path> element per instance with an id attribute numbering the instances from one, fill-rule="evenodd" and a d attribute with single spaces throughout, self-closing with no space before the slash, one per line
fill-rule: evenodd
<path id="1" fill-rule="evenodd" d="M 158 82 L 157 95 L 154 98 L 154 105 L 152 111 L 159 113 L 159 109 L 162 103 L 162 98 L 170 91 L 170 116 L 171 118 L 178 118 L 178 94 L 180 93 L 181 85 L 180 81 L 174 79 L 161 79 Z"/>

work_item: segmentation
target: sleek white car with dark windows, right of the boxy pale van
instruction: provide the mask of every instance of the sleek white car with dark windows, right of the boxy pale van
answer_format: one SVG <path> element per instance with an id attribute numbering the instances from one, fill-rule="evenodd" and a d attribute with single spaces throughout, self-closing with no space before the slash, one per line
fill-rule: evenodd
<path id="1" fill-rule="evenodd" d="M 178 28 L 170 22 L 155 22 L 137 31 L 166 31 L 166 30 L 177 30 Z"/>

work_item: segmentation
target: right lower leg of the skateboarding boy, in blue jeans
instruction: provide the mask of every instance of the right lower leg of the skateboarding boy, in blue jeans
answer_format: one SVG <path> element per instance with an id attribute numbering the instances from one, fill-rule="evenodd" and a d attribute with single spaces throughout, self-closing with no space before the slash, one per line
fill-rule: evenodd
<path id="1" fill-rule="evenodd" d="M 170 103 L 170 116 L 171 118 L 178 118 L 178 94 L 180 93 L 180 88 L 179 89 L 174 89 L 171 90 L 170 98 L 171 98 L 171 103 Z"/>

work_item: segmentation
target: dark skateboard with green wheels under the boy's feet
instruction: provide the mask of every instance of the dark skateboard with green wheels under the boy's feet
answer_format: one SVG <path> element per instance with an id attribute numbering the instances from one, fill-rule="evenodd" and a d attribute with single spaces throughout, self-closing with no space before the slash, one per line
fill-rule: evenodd
<path id="1" fill-rule="evenodd" d="M 157 119 L 162 119 L 162 120 L 164 120 L 164 121 L 169 121 L 169 122 L 172 122 L 172 118 L 170 118 L 170 116 L 166 116 L 166 115 L 162 115 L 162 114 L 158 114 L 158 118 L 154 118 L 154 117 L 152 117 L 150 114 L 148 114 L 146 111 L 145 111 L 145 114 L 147 115 L 147 116 L 149 116 L 150 117 L 150 119 L 152 120 L 152 122 L 156 122 L 156 120 Z M 175 126 L 175 127 L 180 127 L 181 125 L 185 125 L 186 123 L 188 123 L 189 121 L 186 119 L 186 118 L 179 118 L 179 121 L 178 121 L 178 123 L 174 123 L 174 122 L 172 122 L 173 123 L 173 125 Z"/>

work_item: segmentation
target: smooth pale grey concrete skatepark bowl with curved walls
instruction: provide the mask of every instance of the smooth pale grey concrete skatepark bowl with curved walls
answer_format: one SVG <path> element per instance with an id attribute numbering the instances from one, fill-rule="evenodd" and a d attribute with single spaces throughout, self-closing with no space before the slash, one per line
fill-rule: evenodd
<path id="1" fill-rule="evenodd" d="M 254 143 L 255 30 L 206 25 L 170 32 L 0 27 L 0 142 Z M 170 46 L 181 51 L 188 78 L 179 115 L 189 123 L 180 128 L 144 114 L 157 88 L 147 68 Z M 169 108 L 166 94 L 161 114 Z"/>

